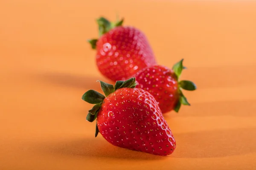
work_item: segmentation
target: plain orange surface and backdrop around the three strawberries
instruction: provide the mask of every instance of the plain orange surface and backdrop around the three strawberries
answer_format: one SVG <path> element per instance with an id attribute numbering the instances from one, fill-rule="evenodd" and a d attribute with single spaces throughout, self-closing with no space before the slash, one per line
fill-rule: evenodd
<path id="1" fill-rule="evenodd" d="M 114 147 L 85 119 L 81 95 L 106 81 L 86 40 L 116 12 L 198 85 L 165 115 L 171 156 Z M 255 21 L 256 1 L 0 0 L 0 170 L 255 170 Z"/>

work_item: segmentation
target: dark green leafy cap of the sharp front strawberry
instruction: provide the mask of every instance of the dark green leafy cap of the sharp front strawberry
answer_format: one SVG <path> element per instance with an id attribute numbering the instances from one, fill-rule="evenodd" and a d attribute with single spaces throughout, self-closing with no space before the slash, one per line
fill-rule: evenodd
<path id="1" fill-rule="evenodd" d="M 128 79 L 126 81 L 117 81 L 114 86 L 111 84 L 99 81 L 99 80 L 98 80 L 98 82 L 100 82 L 102 91 L 104 92 L 106 97 L 108 97 L 111 93 L 115 92 L 119 88 L 135 88 L 137 85 L 134 77 L 131 79 Z M 94 90 L 89 90 L 83 94 L 82 100 L 84 100 L 85 102 L 88 102 L 90 104 L 96 104 L 93 106 L 93 108 L 91 108 L 88 111 L 89 113 L 86 116 L 87 121 L 93 122 L 94 120 L 97 119 L 97 115 L 102 106 L 102 102 L 105 99 L 105 96 L 100 94 L 97 91 L 94 91 Z M 95 137 L 98 135 L 98 133 L 99 133 L 99 128 L 98 128 L 97 122 L 96 122 Z"/>

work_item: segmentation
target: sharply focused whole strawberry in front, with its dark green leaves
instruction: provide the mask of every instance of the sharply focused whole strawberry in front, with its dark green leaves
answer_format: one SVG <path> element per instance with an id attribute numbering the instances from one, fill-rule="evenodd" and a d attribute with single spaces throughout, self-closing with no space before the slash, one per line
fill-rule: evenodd
<path id="1" fill-rule="evenodd" d="M 175 150 L 175 139 L 154 97 L 135 88 L 135 78 L 117 81 L 116 85 L 101 82 L 105 96 L 89 90 L 82 99 L 96 104 L 87 120 L 96 119 L 96 133 L 111 144 L 155 155 L 169 155 Z"/>

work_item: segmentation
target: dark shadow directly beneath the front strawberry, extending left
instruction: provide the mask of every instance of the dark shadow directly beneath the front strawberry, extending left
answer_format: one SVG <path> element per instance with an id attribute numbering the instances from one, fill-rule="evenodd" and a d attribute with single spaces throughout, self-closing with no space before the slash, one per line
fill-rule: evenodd
<path id="1" fill-rule="evenodd" d="M 62 141 L 43 146 L 44 151 L 67 156 L 104 157 L 117 159 L 137 160 L 160 160 L 167 159 L 165 156 L 157 156 L 113 146 L 104 139 L 84 138 L 75 141 Z M 47 147 L 47 148 L 45 148 Z"/>

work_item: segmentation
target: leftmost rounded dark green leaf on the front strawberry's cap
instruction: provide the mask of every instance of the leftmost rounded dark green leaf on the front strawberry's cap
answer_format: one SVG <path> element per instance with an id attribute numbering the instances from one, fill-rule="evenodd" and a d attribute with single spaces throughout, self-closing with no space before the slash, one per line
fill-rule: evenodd
<path id="1" fill-rule="evenodd" d="M 98 104 L 100 102 L 103 102 L 104 99 L 105 96 L 94 90 L 89 90 L 85 92 L 82 96 L 82 100 L 90 104 Z"/>

